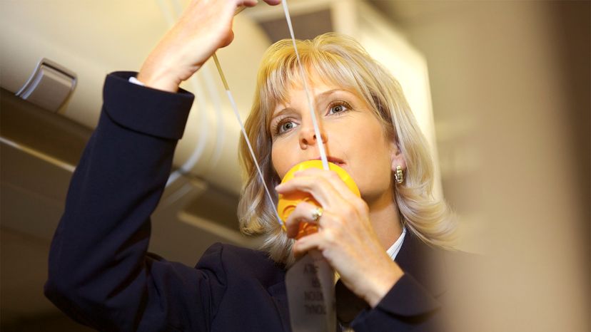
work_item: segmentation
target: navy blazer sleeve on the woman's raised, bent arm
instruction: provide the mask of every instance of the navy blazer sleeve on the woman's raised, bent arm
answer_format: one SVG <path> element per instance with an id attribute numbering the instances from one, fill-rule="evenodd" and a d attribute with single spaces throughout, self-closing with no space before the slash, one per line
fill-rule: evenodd
<path id="1" fill-rule="evenodd" d="M 150 215 L 193 95 L 111 73 L 49 253 L 46 296 L 100 331 L 208 331 L 226 289 L 221 246 L 195 268 L 147 254 Z"/>

